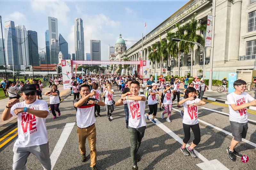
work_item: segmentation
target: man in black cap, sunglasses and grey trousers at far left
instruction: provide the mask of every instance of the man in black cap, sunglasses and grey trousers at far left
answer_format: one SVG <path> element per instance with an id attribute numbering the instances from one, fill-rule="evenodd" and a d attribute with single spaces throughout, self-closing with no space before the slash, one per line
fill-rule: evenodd
<path id="1" fill-rule="evenodd" d="M 18 117 L 18 139 L 13 146 L 12 169 L 26 169 L 28 156 L 32 153 L 44 170 L 50 170 L 52 166 L 45 125 L 45 118 L 50 114 L 48 105 L 44 100 L 36 100 L 34 85 L 24 85 L 20 96 L 24 101 L 19 103 L 18 99 L 9 100 L 2 115 L 4 121 Z"/>

